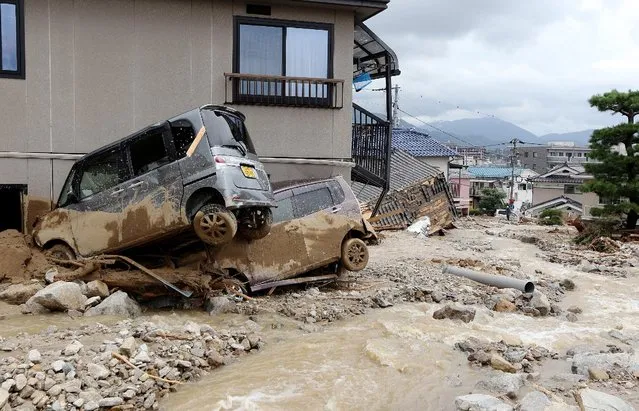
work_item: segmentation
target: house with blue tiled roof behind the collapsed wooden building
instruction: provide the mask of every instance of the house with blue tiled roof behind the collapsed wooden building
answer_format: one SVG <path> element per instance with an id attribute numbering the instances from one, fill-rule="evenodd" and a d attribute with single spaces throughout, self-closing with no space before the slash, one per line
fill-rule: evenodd
<path id="1" fill-rule="evenodd" d="M 436 167 L 448 180 L 449 163 L 459 154 L 430 137 L 428 134 L 408 128 L 393 129 L 393 148 L 406 151 L 411 156 Z"/>

